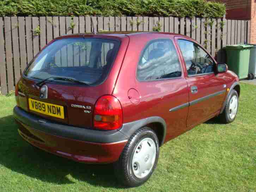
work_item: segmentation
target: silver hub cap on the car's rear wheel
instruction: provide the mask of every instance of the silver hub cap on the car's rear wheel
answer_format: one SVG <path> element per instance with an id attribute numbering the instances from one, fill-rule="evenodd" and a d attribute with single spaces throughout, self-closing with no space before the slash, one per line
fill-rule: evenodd
<path id="1" fill-rule="evenodd" d="M 132 170 L 137 178 L 147 176 L 156 160 L 156 144 L 151 138 L 144 138 L 136 146 L 132 159 Z"/>

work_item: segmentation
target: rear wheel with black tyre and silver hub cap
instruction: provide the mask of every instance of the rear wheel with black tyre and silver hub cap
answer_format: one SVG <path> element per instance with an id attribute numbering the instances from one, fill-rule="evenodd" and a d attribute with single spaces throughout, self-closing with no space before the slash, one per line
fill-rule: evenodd
<path id="1" fill-rule="evenodd" d="M 114 163 L 117 179 L 127 187 L 146 182 L 157 166 L 159 141 L 150 128 L 141 128 L 128 140 L 119 160 Z"/>

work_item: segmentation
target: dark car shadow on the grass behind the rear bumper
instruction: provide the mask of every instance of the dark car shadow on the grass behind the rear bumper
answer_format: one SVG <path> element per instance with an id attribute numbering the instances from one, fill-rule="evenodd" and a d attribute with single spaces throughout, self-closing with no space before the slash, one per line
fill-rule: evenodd
<path id="1" fill-rule="evenodd" d="M 0 164 L 4 167 L 56 184 L 72 184 L 77 179 L 95 186 L 122 187 L 111 164 L 87 165 L 37 149 L 19 136 L 13 116 L 0 118 L 0 124 Z"/>

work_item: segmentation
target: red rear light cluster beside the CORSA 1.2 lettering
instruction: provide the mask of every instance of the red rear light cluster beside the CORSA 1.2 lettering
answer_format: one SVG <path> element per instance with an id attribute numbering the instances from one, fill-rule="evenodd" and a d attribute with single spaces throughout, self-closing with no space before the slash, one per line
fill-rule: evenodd
<path id="1" fill-rule="evenodd" d="M 93 126 L 102 130 L 114 130 L 122 124 L 123 111 L 119 100 L 112 95 L 100 97 L 94 107 Z"/>

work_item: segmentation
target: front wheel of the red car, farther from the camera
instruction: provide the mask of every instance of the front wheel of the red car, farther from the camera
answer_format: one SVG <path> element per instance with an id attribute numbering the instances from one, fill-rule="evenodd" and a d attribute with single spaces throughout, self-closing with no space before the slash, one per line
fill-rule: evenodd
<path id="1" fill-rule="evenodd" d="M 231 94 L 228 96 L 226 106 L 223 113 L 220 114 L 219 118 L 223 123 L 231 123 L 236 119 L 238 111 L 239 99 L 236 90 L 231 90 Z"/>

